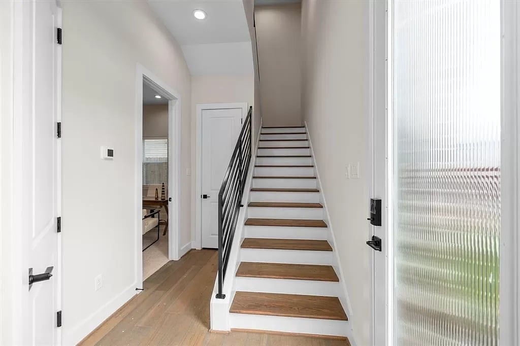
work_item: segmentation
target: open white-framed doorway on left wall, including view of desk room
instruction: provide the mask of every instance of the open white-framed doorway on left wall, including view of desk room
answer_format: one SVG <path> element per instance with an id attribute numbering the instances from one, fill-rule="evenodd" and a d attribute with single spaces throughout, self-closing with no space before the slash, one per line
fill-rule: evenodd
<path id="1" fill-rule="evenodd" d="M 170 260 L 179 259 L 180 100 L 142 66 L 136 78 L 137 287 Z"/>

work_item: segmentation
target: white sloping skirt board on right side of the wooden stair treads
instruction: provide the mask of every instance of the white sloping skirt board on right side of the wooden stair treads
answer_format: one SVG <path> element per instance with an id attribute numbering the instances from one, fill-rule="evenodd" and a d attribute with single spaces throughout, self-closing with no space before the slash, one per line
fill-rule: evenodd
<path id="1" fill-rule="evenodd" d="M 343 310 L 345 311 L 345 313 L 348 316 L 348 321 L 349 321 L 348 325 L 350 328 L 348 334 L 349 334 L 350 344 L 352 346 L 356 346 L 358 343 L 355 339 L 354 331 L 352 330 L 352 320 L 355 316 L 353 316 L 353 313 L 352 313 L 352 305 L 350 304 L 350 299 L 348 296 L 345 277 L 343 275 L 343 269 L 341 266 L 340 256 L 339 256 L 339 249 L 337 248 L 337 245 L 336 245 L 336 238 L 334 237 L 334 230 L 333 230 L 332 222 L 331 222 L 330 215 L 329 215 L 329 208 L 327 207 L 327 201 L 325 199 L 323 189 L 321 188 L 322 185 L 321 185 L 321 180 L 320 180 L 320 173 L 319 173 L 318 165 L 317 165 L 316 159 L 315 159 L 316 156 L 314 154 L 313 141 L 311 140 L 311 137 L 310 137 L 309 128 L 307 127 L 307 122 L 304 122 L 304 124 L 305 124 L 305 131 L 307 132 L 307 139 L 309 141 L 310 155 L 312 156 L 311 159 L 313 161 L 314 170 L 315 170 L 315 174 L 316 174 L 316 178 L 317 178 L 317 188 L 318 188 L 318 190 L 320 190 L 320 203 L 323 205 L 323 221 L 325 221 L 327 223 L 327 225 L 329 226 L 328 241 L 333 250 L 332 251 L 332 253 L 333 253 L 332 267 L 334 268 L 334 270 L 336 271 L 336 275 L 340 279 L 340 285 L 341 285 L 341 289 L 342 289 L 342 294 L 338 298 L 340 299 L 340 302 L 343 306 Z"/>

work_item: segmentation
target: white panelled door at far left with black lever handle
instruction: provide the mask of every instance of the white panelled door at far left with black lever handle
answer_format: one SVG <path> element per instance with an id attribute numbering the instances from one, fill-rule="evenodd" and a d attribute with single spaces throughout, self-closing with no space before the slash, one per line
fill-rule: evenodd
<path id="1" fill-rule="evenodd" d="M 58 8 L 54 1 L 31 2 L 32 98 L 23 158 L 24 183 L 29 189 L 28 264 L 33 274 L 53 270 L 48 280 L 29 286 L 25 344 L 58 343 L 57 310 L 60 258 L 58 252 L 58 76 L 61 66 L 57 44 Z M 27 286 L 25 286 L 27 289 Z"/>

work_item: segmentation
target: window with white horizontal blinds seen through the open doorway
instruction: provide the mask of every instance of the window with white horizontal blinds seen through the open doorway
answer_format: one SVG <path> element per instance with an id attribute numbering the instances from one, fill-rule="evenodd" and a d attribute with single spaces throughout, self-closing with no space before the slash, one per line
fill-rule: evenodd
<path id="1" fill-rule="evenodd" d="M 142 184 L 168 183 L 168 139 L 142 140 Z"/>

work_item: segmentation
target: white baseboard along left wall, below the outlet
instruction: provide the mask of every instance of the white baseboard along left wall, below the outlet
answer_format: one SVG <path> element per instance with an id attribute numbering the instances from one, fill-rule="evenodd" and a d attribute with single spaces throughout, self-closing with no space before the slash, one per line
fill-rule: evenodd
<path id="1" fill-rule="evenodd" d="M 136 283 L 133 283 L 129 287 L 125 288 L 119 295 L 109 300 L 96 312 L 88 315 L 82 322 L 75 326 L 67 327 L 67 324 L 63 323 L 62 344 L 75 345 L 83 340 L 90 332 L 107 320 L 110 315 L 121 308 L 124 303 L 138 294 L 139 291 L 136 291 L 136 287 Z M 67 316 L 67 311 L 64 311 L 64 316 Z"/>

